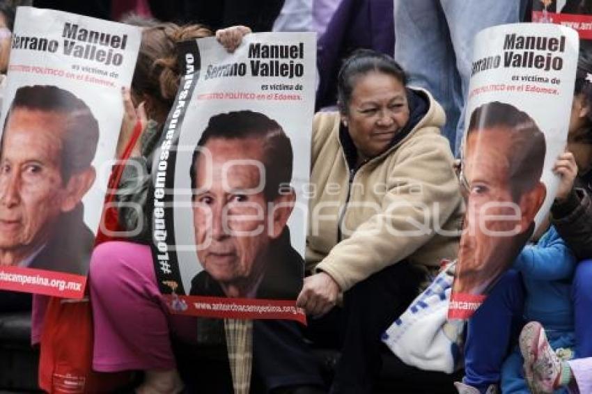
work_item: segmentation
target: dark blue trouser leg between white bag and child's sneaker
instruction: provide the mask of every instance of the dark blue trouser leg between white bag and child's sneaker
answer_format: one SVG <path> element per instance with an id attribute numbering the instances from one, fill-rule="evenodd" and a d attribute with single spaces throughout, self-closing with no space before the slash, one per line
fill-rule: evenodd
<path id="1" fill-rule="evenodd" d="M 517 271 L 501 276 L 483 305 L 469 320 L 465 343 L 465 378 L 469 386 L 485 392 L 500 380 L 513 332 L 522 316 L 524 290 Z"/>

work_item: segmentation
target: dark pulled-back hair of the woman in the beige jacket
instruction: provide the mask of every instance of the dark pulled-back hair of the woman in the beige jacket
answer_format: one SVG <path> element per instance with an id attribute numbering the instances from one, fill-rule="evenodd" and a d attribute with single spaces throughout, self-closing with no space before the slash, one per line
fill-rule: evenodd
<path id="1" fill-rule="evenodd" d="M 368 72 L 389 74 L 407 85 L 407 75 L 394 58 L 372 49 L 357 49 L 343 61 L 337 76 L 337 105 L 341 113 L 348 113 L 357 79 Z"/>

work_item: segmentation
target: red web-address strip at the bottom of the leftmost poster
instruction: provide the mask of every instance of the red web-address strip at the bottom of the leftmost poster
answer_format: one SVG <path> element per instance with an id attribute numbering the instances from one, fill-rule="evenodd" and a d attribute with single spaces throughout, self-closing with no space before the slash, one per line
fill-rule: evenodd
<path id="1" fill-rule="evenodd" d="M 25 267 L 0 266 L 0 289 L 54 297 L 84 297 L 86 276 Z"/>

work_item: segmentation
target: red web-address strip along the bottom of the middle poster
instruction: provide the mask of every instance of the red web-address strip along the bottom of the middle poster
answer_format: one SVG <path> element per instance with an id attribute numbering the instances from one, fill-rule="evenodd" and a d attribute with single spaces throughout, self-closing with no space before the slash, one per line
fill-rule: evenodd
<path id="1" fill-rule="evenodd" d="M 165 295 L 172 313 L 231 319 L 283 319 L 306 324 L 295 300 Z"/>

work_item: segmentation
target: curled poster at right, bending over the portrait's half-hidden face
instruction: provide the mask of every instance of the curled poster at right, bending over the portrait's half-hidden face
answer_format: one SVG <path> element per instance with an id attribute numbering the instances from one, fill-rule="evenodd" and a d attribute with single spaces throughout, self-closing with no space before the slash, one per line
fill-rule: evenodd
<path id="1" fill-rule="evenodd" d="M 467 202 L 448 317 L 468 319 L 546 219 L 566 146 L 579 41 L 556 24 L 475 39 L 459 180 Z"/>

